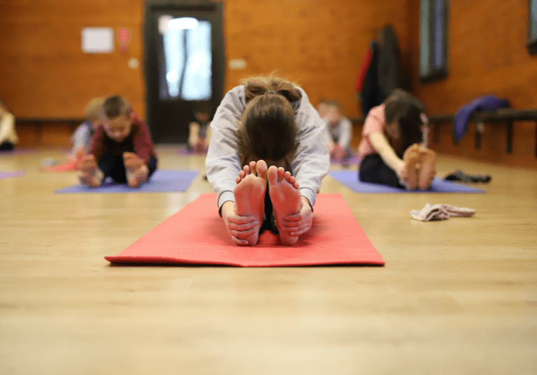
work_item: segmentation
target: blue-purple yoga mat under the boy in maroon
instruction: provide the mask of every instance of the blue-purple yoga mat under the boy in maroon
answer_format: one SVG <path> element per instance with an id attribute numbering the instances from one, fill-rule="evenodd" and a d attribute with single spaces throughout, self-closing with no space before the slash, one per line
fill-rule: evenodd
<path id="1" fill-rule="evenodd" d="M 82 184 L 55 190 L 55 193 L 167 193 L 187 191 L 198 175 L 198 170 L 156 170 L 149 181 L 144 182 L 137 188 L 131 188 L 127 184 L 118 184 L 111 179 L 106 179 L 98 188 L 91 188 Z"/>

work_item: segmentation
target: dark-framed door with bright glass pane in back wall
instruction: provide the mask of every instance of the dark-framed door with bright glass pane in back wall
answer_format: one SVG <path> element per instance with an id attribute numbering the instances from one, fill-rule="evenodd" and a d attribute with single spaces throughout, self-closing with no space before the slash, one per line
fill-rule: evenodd
<path id="1" fill-rule="evenodd" d="M 145 3 L 147 122 L 155 143 L 186 142 L 199 102 L 215 112 L 224 91 L 222 3 Z"/>

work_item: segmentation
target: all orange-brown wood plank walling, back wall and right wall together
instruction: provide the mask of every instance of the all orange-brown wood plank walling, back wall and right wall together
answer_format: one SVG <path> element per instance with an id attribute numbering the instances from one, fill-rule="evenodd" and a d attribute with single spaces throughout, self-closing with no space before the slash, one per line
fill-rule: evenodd
<path id="1" fill-rule="evenodd" d="M 224 0 L 226 91 L 241 78 L 278 70 L 299 82 L 312 103 L 336 99 L 359 117 L 353 84 L 368 43 L 391 23 L 399 37 L 403 71 L 432 115 L 454 113 L 477 96 L 509 98 L 513 108 L 537 107 L 537 57 L 530 56 L 526 0 L 450 1 L 450 73 L 422 84 L 417 78 L 419 0 Z M 0 5 L 0 97 L 17 117 L 83 117 L 94 96 L 119 93 L 145 116 L 142 71 L 144 0 L 3 0 Z M 83 27 L 131 31 L 127 51 L 84 54 Z M 131 58 L 141 62 L 129 68 Z M 536 166 L 535 124 L 515 126 L 514 152 L 505 152 L 503 126 L 487 127 L 482 149 L 473 149 L 473 126 L 452 145 L 443 126 L 439 152 L 513 166 Z M 22 142 L 36 137 L 20 128 Z M 45 145 L 69 145 L 69 131 L 43 130 Z M 357 128 L 359 131 L 359 128 Z M 47 132 L 54 134 L 48 135 Z M 355 138 L 357 142 L 359 138 Z M 48 142 L 48 143 L 47 143 Z"/>

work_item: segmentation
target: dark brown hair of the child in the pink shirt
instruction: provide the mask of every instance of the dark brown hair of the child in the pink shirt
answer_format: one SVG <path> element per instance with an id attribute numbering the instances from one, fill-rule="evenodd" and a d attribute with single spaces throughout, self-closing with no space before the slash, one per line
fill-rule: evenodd
<path id="1" fill-rule="evenodd" d="M 384 101 L 384 115 L 387 124 L 398 124 L 400 137 L 394 140 L 388 137 L 397 155 L 415 143 L 423 140 L 421 115 L 425 112 L 425 105 L 412 94 L 401 89 L 395 89 Z"/>

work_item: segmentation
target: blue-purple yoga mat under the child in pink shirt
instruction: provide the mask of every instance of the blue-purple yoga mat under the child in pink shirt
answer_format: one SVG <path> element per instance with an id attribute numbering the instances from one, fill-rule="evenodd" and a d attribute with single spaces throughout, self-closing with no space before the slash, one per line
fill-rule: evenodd
<path id="1" fill-rule="evenodd" d="M 406 190 L 382 184 L 361 182 L 358 179 L 358 172 L 354 170 L 332 170 L 330 177 L 347 186 L 355 193 L 485 193 L 485 190 L 482 189 L 455 184 L 436 177 L 431 187 L 427 190 Z"/>

